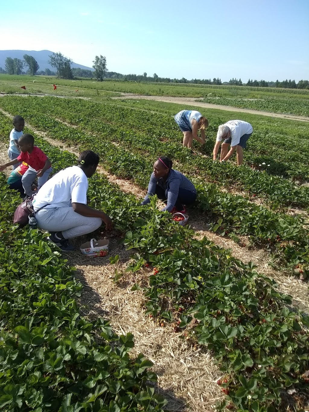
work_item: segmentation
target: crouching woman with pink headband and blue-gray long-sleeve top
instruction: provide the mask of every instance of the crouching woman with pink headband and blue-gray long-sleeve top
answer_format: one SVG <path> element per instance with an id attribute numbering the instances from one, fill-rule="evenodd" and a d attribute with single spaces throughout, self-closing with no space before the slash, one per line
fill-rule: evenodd
<path id="1" fill-rule="evenodd" d="M 171 213 L 185 213 L 184 205 L 194 203 L 197 190 L 193 183 L 182 173 L 172 169 L 172 166 L 173 162 L 169 157 L 161 156 L 157 159 L 142 205 L 150 203 L 149 198 L 154 194 L 166 204 L 162 212 L 167 210 Z"/>

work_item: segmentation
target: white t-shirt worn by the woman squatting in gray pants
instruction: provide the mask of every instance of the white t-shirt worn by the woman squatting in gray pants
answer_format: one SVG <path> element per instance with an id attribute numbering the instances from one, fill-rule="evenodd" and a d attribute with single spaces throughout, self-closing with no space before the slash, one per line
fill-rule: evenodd
<path id="1" fill-rule="evenodd" d="M 78 166 L 68 167 L 56 173 L 40 188 L 33 200 L 36 211 L 46 208 L 70 207 L 72 203 L 87 204 L 88 179 Z"/>

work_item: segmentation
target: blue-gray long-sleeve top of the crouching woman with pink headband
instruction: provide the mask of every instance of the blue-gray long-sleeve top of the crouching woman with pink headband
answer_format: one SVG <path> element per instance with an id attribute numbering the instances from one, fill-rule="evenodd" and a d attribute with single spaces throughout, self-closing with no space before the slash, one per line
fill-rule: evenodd
<path id="1" fill-rule="evenodd" d="M 156 192 L 156 186 L 162 187 L 162 189 L 167 190 L 167 204 L 162 209 L 162 211 L 171 211 L 176 204 L 178 198 L 179 189 L 189 190 L 190 192 L 196 193 L 192 182 L 187 179 L 182 173 L 177 170 L 171 169 L 167 179 L 164 181 L 163 178 L 157 179 L 154 173 L 150 176 L 150 181 L 148 184 L 147 194 L 142 201 L 142 205 L 150 203 L 150 196 L 153 196 Z"/>

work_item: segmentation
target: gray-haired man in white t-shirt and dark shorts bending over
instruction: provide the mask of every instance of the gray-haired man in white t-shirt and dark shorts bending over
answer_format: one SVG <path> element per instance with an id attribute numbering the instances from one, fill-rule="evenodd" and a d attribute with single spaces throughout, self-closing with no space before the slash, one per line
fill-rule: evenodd
<path id="1" fill-rule="evenodd" d="M 232 154 L 237 154 L 237 166 L 243 162 L 243 149 L 246 149 L 248 138 L 253 133 L 250 123 L 243 120 L 229 120 L 218 128 L 217 140 L 213 148 L 213 160 L 217 158 L 220 143 L 222 142 L 220 162 L 226 162 Z M 229 149 L 229 145 L 231 148 Z"/>

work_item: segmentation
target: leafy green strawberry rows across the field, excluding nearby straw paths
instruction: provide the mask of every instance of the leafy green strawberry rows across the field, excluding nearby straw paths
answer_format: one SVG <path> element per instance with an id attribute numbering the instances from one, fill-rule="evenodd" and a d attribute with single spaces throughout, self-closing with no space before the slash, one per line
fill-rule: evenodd
<path id="1" fill-rule="evenodd" d="M 245 164 L 236 168 L 208 157 L 227 113 L 208 111 L 208 141 L 189 152 L 180 145 L 172 109 L 154 113 L 127 102 L 13 96 L 0 98 L 0 108 L 7 112 L 0 114 L 2 141 L 11 129 L 9 115 L 22 115 L 54 171 L 75 162 L 70 146 L 91 149 L 105 171 L 144 193 L 155 159 L 170 156 L 175 169 L 196 184 L 192 213 L 209 230 L 241 247 L 265 250 L 269 264 L 284 276 L 306 282 L 309 189 L 302 184 L 309 174 L 307 124 L 278 120 L 271 127 L 257 117 Z M 83 287 L 74 279 L 74 268 L 43 233 L 12 224 L 20 199 L 7 190 L 3 174 L 0 184 L 2 409 L 164 410 L 152 363 L 130 355 L 133 336 L 117 335 L 108 318 L 90 321 L 80 314 Z M 272 412 L 306 405 L 308 307 L 293 307 L 292 297 L 256 272 L 252 262 L 200 239 L 194 227 L 181 227 L 154 200 L 150 207 L 140 206 L 140 198 L 101 174 L 89 180 L 88 195 L 91 206 L 110 215 L 132 251 L 126 272 L 114 274 L 116 285 L 126 273 L 133 274 L 136 281 L 129 288 L 143 294 L 140 310 L 149 323 L 209 351 L 218 365 L 218 410 Z M 111 264 L 118 259 L 112 256 Z"/>

